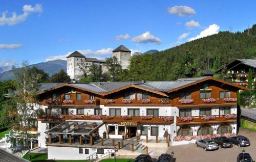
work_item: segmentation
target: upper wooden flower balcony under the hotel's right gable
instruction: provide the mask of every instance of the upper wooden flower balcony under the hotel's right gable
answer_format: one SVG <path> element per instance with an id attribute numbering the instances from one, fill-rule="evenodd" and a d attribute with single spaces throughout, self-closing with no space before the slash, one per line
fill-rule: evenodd
<path id="1" fill-rule="evenodd" d="M 231 99 L 231 98 L 230 98 Z M 189 99 L 178 100 L 177 107 L 204 107 L 204 106 L 230 106 L 236 105 L 237 101 L 225 101 L 224 98 L 208 98 L 208 99 Z"/>

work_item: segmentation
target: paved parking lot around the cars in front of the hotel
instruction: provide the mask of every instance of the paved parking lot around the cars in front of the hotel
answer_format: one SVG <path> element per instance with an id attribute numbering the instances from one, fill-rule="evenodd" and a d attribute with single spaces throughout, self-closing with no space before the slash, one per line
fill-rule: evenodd
<path id="1" fill-rule="evenodd" d="M 239 135 L 247 137 L 251 141 L 248 147 L 238 147 L 233 145 L 231 148 L 220 148 L 215 151 L 204 151 L 201 147 L 196 147 L 195 144 L 172 146 L 168 148 L 168 153 L 174 151 L 176 161 L 237 161 L 237 156 L 244 149 L 248 152 L 253 160 L 256 160 L 256 132 L 247 129 L 240 129 Z"/>

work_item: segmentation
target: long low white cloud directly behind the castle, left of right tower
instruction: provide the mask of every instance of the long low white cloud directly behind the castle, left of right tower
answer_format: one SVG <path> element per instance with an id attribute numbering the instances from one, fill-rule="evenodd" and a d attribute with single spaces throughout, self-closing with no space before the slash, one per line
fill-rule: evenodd
<path id="1" fill-rule="evenodd" d="M 88 57 L 88 58 L 96 58 L 99 60 L 104 60 L 106 57 L 110 57 L 112 53 L 113 48 L 102 48 L 96 51 L 93 51 L 91 49 L 84 49 L 84 50 L 77 50 L 82 55 Z M 68 52 L 66 55 L 57 55 L 57 56 L 51 56 L 46 58 L 46 61 L 52 61 L 52 60 L 67 60 L 67 57 L 74 51 Z"/>

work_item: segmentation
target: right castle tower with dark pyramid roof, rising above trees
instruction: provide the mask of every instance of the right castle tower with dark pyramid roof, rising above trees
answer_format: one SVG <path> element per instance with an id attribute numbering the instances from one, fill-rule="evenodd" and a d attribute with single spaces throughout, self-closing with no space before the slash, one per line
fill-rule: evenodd
<path id="1" fill-rule="evenodd" d="M 115 56 L 119 61 L 121 61 L 122 69 L 127 69 L 132 53 L 128 48 L 120 45 L 112 51 L 112 56 Z"/>

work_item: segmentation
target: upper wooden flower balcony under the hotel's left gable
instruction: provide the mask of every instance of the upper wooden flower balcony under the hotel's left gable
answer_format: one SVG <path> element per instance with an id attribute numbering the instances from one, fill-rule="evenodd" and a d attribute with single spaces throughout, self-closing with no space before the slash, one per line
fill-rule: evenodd
<path id="1" fill-rule="evenodd" d="M 42 105 L 46 106 L 53 106 L 53 105 L 65 105 L 65 106 L 72 106 L 72 105 L 83 105 L 83 106 L 97 106 L 100 104 L 99 99 L 95 100 L 52 100 L 52 99 L 45 99 L 42 101 Z"/>

